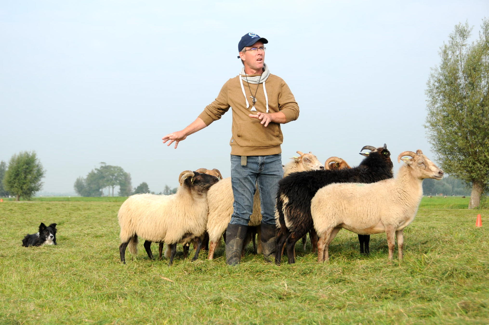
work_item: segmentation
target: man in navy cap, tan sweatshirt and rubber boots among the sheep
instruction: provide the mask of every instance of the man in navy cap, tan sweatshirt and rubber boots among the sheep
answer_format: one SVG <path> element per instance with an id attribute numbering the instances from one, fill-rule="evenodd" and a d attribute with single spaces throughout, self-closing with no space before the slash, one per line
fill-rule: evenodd
<path id="1" fill-rule="evenodd" d="M 253 195 L 258 185 L 262 206 L 261 241 L 265 260 L 275 251 L 275 195 L 283 177 L 281 123 L 294 121 L 299 107 L 287 84 L 270 74 L 265 64 L 264 44 L 268 41 L 248 33 L 238 43 L 243 63 L 239 76 L 229 79 L 214 102 L 183 130 L 165 135 L 168 146 L 219 120 L 229 108 L 233 111 L 231 183 L 234 212 L 226 230 L 226 263 L 241 261 L 241 251 L 253 211 Z"/>

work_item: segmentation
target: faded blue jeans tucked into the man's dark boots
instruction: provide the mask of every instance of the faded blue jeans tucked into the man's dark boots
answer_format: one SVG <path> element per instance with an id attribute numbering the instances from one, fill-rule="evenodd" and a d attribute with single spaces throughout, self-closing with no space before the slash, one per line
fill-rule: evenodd
<path id="1" fill-rule="evenodd" d="M 275 224 L 275 197 L 278 181 L 284 176 L 282 155 L 247 156 L 246 166 L 241 156 L 231 155 L 231 184 L 234 203 L 231 224 L 247 226 L 253 212 L 253 195 L 258 185 L 262 223 Z"/>

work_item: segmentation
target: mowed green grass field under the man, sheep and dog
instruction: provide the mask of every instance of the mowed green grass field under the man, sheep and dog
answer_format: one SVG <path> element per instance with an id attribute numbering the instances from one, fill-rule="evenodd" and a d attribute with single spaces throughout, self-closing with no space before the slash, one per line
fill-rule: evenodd
<path id="1" fill-rule="evenodd" d="M 293 265 L 249 247 L 236 267 L 223 247 L 191 262 L 180 246 L 169 267 L 149 260 L 142 240 L 121 264 L 122 200 L 0 203 L 0 324 L 489 323 L 489 210 L 467 210 L 468 198 L 424 197 L 401 262 L 387 260 L 385 234 L 371 237 L 366 257 L 342 230 L 329 264 L 298 244 Z M 22 247 L 41 221 L 58 224 L 58 245 Z"/>

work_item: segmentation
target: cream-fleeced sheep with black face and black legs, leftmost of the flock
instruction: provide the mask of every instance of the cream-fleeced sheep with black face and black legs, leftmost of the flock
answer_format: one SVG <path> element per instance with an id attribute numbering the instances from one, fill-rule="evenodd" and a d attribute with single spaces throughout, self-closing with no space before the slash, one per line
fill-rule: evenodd
<path id="1" fill-rule="evenodd" d="M 216 176 L 185 171 L 178 177 L 180 187 L 174 195 L 136 194 L 130 196 L 119 209 L 121 261 L 126 263 L 126 247 L 133 256 L 137 254 L 137 238 L 166 242 L 171 249 L 170 265 L 177 251 L 177 243 L 183 245 L 196 240 L 198 249 L 193 260 L 199 257 L 201 236 L 207 220 L 207 192 L 218 182 Z M 149 245 L 144 245 L 152 258 Z"/>

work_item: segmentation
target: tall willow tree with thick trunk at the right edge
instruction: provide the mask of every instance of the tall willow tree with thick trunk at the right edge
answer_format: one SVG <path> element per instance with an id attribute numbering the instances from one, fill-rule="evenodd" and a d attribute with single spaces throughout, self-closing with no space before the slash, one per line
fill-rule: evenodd
<path id="1" fill-rule="evenodd" d="M 445 172 L 472 183 L 469 209 L 489 189 L 489 20 L 469 43 L 472 28 L 458 24 L 440 48 L 441 63 L 427 82 L 425 128 Z"/>

